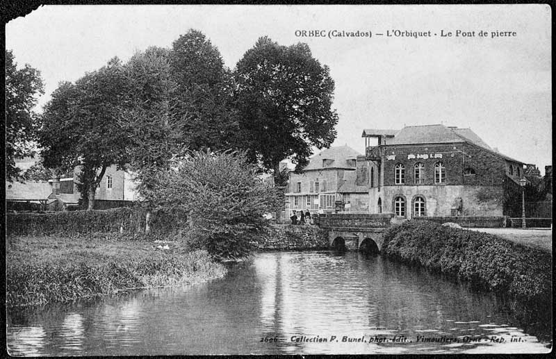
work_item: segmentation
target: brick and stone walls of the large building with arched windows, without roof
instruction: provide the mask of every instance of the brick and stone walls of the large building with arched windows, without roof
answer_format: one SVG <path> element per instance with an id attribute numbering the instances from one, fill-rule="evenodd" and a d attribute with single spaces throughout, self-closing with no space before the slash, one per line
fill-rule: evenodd
<path id="1" fill-rule="evenodd" d="M 401 199 L 405 218 L 502 216 L 504 183 L 523 174 L 519 162 L 469 144 L 386 146 L 382 158 L 382 186 L 369 190 L 370 212 L 400 215 Z"/>

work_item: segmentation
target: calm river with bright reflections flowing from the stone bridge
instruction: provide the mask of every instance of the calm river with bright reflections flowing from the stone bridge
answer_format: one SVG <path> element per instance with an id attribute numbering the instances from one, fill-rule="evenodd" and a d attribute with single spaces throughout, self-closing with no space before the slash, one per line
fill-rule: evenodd
<path id="1" fill-rule="evenodd" d="M 355 252 L 258 253 L 211 283 L 7 314 L 14 356 L 550 351 L 493 294 Z"/>

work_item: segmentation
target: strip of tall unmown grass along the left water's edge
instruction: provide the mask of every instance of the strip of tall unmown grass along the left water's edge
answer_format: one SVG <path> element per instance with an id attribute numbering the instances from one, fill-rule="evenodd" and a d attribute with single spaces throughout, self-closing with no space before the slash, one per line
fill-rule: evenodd
<path id="1" fill-rule="evenodd" d="M 206 251 L 161 253 L 149 258 L 81 260 L 63 266 L 10 260 L 6 305 L 31 306 L 115 294 L 123 290 L 221 278 L 226 269 Z"/>

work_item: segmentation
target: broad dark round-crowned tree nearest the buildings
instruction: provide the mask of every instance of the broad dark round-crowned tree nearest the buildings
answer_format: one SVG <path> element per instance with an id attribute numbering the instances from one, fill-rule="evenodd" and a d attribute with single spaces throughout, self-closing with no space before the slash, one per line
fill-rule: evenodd
<path id="1" fill-rule="evenodd" d="M 302 169 L 311 147 L 334 142 L 334 81 L 306 44 L 285 47 L 259 38 L 238 62 L 235 81 L 245 148 L 252 149 L 252 160 L 274 171 L 276 183 L 282 180 L 281 160 L 291 158 Z"/>

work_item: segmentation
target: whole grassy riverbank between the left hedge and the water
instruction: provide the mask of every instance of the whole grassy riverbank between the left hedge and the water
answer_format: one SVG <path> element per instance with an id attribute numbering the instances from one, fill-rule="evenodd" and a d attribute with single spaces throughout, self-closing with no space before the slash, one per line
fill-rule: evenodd
<path id="1" fill-rule="evenodd" d="M 6 305 L 31 306 L 226 274 L 206 251 L 110 237 L 20 236 L 6 245 Z M 164 245 L 164 244 L 162 244 Z"/>

